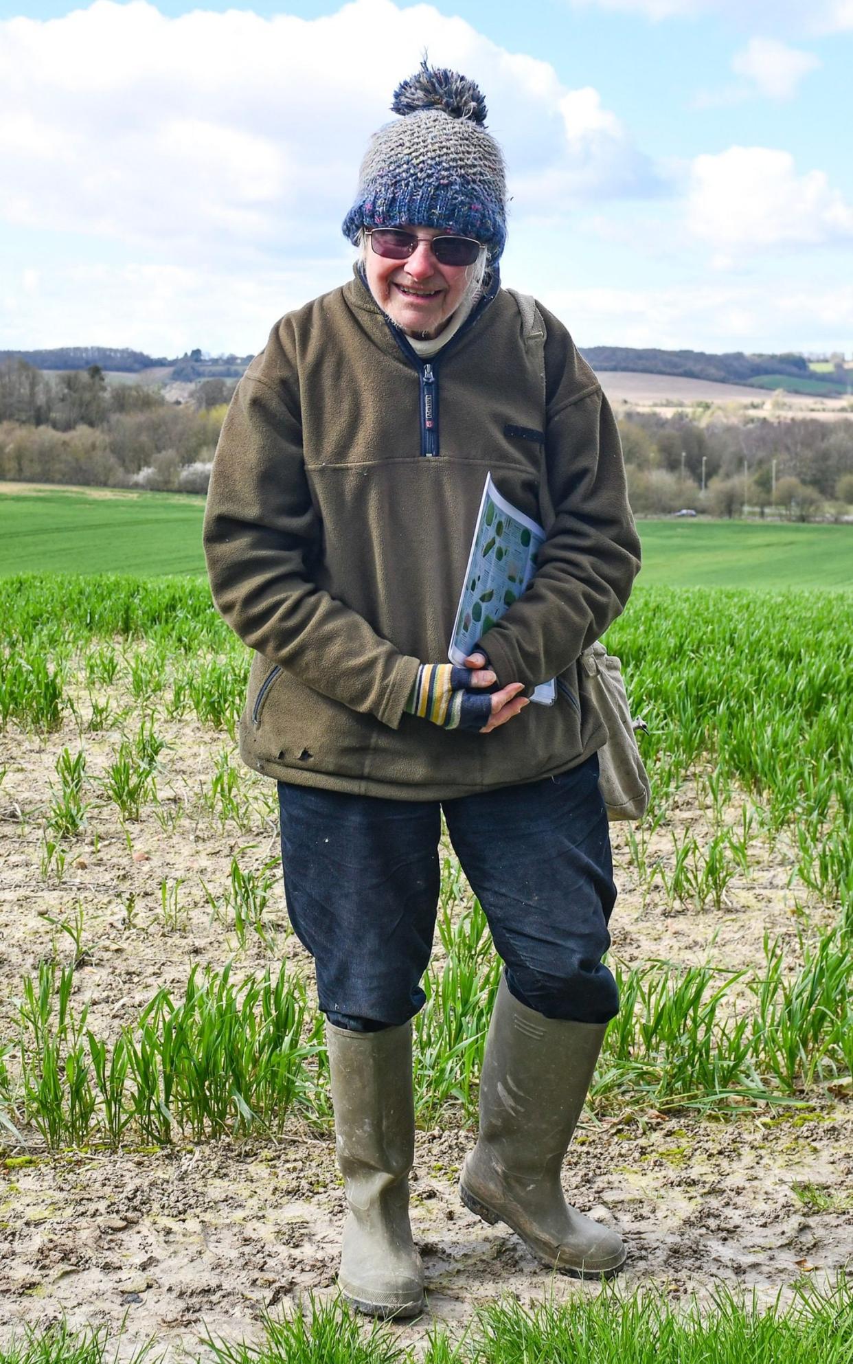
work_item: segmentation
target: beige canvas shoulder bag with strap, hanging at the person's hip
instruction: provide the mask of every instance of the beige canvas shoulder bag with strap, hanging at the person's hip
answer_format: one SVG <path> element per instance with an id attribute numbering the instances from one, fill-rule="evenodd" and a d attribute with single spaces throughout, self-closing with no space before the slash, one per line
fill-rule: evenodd
<path id="1" fill-rule="evenodd" d="M 542 352 L 539 368 L 545 409 L 545 319 L 531 295 L 516 293 L 515 289 L 508 292 L 519 304 L 525 344 Z M 542 430 L 545 430 L 545 411 Z M 631 719 L 622 666 L 596 640 L 580 655 L 577 678 L 581 696 L 585 694 L 587 702 L 598 711 L 607 730 L 607 742 L 598 750 L 598 786 L 607 807 L 607 818 L 641 820 L 648 809 L 651 787 L 640 757 L 635 722 Z M 636 728 L 646 726 L 637 722 Z"/>

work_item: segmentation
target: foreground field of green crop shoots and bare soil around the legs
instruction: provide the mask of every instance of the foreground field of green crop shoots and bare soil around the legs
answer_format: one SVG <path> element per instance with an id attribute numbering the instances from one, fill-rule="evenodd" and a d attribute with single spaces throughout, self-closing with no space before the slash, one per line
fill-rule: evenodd
<path id="1" fill-rule="evenodd" d="M 766 591 L 646 587 L 610 632 L 654 805 L 614 825 L 622 1009 L 565 1183 L 626 1270 L 550 1274 L 457 1202 L 497 967 L 448 848 L 416 1042 L 430 1315 L 373 1337 L 333 1297 L 325 1050 L 274 787 L 235 753 L 244 651 L 191 573 L 0 578 L 3 1364 L 149 1337 L 235 1364 L 850 1364 L 853 596 L 770 591 L 843 582 L 846 528 L 643 529 L 676 580 L 695 532 L 730 572 L 730 532 L 787 542 L 741 567 Z M 89 1353 L 12 1348 L 63 1312 Z"/>

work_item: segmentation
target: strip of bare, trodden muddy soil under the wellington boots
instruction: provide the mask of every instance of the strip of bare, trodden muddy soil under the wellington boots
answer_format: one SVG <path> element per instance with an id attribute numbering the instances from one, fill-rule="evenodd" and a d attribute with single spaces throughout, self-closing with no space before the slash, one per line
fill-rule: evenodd
<path id="1" fill-rule="evenodd" d="M 396 1327 L 405 1342 L 435 1320 L 461 1326 L 495 1296 L 596 1292 L 542 1269 L 508 1228 L 461 1206 L 456 1176 L 469 1143 L 465 1132 L 418 1136 L 412 1229 L 429 1314 Z M 852 1151 L 841 1110 L 800 1125 L 584 1124 L 564 1185 L 576 1207 L 622 1229 L 626 1289 L 654 1279 L 680 1297 L 726 1282 L 770 1301 L 800 1275 L 831 1278 L 853 1258 Z M 53 1157 L 7 1169 L 3 1184 L 0 1341 L 15 1323 L 63 1312 L 117 1330 L 127 1312 L 121 1357 L 154 1335 L 167 1360 L 192 1359 L 205 1354 L 205 1330 L 257 1338 L 263 1308 L 334 1293 L 344 1198 L 332 1140 L 293 1133 L 274 1147 Z"/>

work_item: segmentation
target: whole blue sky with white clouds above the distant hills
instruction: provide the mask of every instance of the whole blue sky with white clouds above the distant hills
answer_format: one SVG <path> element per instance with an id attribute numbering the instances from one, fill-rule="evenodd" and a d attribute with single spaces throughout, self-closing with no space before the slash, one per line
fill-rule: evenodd
<path id="1" fill-rule="evenodd" d="M 579 345 L 853 353 L 853 0 L 0 0 L 0 349 L 259 351 L 424 52 Z"/>

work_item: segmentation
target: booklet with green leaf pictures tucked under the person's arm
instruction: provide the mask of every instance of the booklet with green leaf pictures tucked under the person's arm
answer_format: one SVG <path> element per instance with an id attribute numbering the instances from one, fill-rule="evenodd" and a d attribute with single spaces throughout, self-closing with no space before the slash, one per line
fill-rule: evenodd
<path id="1" fill-rule="evenodd" d="M 463 664 L 475 644 L 521 596 L 536 572 L 543 543 L 543 528 L 502 498 L 487 473 L 448 651 L 452 663 Z M 485 648 L 489 652 L 487 640 Z M 553 705 L 554 696 L 554 682 L 542 682 L 531 701 Z"/>

